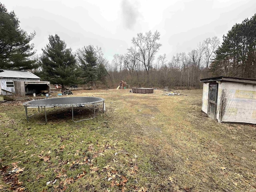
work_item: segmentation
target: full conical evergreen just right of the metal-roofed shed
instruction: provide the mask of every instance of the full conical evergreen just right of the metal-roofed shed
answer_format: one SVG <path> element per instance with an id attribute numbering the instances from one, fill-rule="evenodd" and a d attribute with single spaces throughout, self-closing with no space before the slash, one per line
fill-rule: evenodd
<path id="1" fill-rule="evenodd" d="M 57 34 L 48 39 L 49 44 L 42 49 L 42 78 L 52 84 L 61 84 L 62 89 L 78 83 L 79 72 L 71 48 L 66 48 L 66 43 Z"/>

